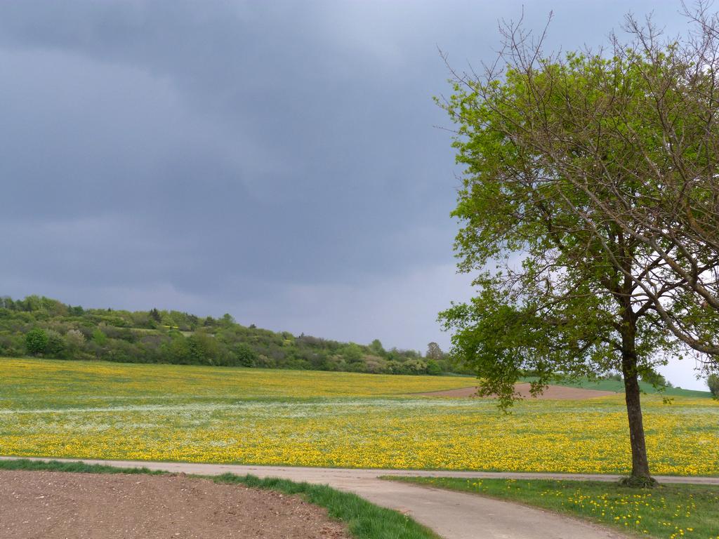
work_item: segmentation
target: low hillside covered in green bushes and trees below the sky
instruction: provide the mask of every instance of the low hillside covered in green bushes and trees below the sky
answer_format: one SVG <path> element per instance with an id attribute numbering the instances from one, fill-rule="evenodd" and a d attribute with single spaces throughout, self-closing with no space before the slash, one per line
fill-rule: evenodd
<path id="1" fill-rule="evenodd" d="M 0 298 L 0 356 L 123 363 L 313 369 L 387 374 L 441 374 L 444 354 L 385 350 L 308 335 L 295 336 L 176 310 L 128 311 L 73 307 L 37 295 Z"/>

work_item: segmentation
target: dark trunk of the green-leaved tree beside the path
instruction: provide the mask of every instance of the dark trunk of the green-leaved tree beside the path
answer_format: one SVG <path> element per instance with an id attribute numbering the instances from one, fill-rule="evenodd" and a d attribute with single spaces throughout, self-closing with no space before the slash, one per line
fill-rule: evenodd
<path id="1" fill-rule="evenodd" d="M 651 483 L 644 440 L 644 422 L 641 418 L 641 392 L 636 369 L 636 321 L 626 321 L 625 328 L 622 333 L 622 374 L 631 442 L 631 479 Z"/>

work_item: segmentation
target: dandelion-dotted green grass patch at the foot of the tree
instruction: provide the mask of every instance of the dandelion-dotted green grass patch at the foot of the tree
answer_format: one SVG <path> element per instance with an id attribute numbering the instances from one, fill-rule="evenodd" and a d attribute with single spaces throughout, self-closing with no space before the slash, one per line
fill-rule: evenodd
<path id="1" fill-rule="evenodd" d="M 536 505 L 642 537 L 719 538 L 719 487 L 664 484 L 632 489 L 597 481 L 397 477 L 404 481 Z"/>

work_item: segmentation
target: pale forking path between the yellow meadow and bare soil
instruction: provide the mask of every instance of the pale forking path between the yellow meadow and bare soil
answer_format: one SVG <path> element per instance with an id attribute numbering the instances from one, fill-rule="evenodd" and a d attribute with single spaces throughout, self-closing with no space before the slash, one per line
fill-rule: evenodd
<path id="1" fill-rule="evenodd" d="M 0 457 L 4 459 L 6 457 Z M 42 459 L 50 460 L 50 459 Z M 56 459 L 65 460 L 65 459 Z M 435 530 L 445 539 L 611 539 L 625 536 L 552 512 L 523 507 L 511 502 L 450 492 L 413 484 L 378 479 L 383 475 L 448 476 L 510 479 L 595 479 L 616 481 L 619 476 L 590 474 L 522 474 L 482 471 L 419 471 L 299 468 L 290 466 L 239 466 L 232 464 L 193 464 L 178 462 L 93 461 L 132 468 L 214 475 L 232 472 L 259 477 L 283 477 L 293 481 L 329 484 L 339 490 L 355 492 L 377 505 L 404 512 Z M 660 482 L 719 484 L 719 477 L 658 476 Z"/>

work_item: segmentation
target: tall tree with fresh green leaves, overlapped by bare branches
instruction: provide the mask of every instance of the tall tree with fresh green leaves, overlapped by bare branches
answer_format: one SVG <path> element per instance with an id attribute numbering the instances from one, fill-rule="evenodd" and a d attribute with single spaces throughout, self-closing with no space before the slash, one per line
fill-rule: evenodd
<path id="1" fill-rule="evenodd" d="M 638 377 L 719 355 L 719 42 L 703 6 L 684 39 L 627 18 L 627 43 L 546 54 L 521 24 L 498 62 L 454 73 L 443 106 L 466 166 L 459 270 L 479 295 L 441 318 L 480 392 L 557 373 L 623 374 L 631 478 L 650 484 Z"/>

